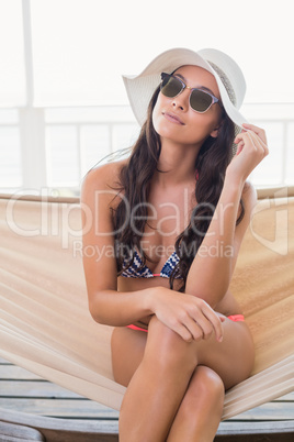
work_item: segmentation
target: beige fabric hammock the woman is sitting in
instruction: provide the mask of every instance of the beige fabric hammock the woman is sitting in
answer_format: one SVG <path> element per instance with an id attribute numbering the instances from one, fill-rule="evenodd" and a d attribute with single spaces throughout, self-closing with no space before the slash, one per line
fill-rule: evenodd
<path id="1" fill-rule="evenodd" d="M 227 391 L 223 419 L 293 390 L 294 191 L 259 198 L 231 283 L 256 364 Z M 112 328 L 88 311 L 80 211 L 72 198 L 0 197 L 0 356 L 118 410 L 125 388 L 112 375 Z"/>

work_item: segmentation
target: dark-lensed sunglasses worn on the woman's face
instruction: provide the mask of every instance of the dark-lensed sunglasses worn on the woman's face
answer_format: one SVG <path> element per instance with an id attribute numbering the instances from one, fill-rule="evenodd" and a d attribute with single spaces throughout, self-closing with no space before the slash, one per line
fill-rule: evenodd
<path id="1" fill-rule="evenodd" d="M 179 77 L 174 77 L 171 74 L 161 74 L 160 91 L 165 97 L 178 97 L 185 88 L 191 89 L 189 102 L 193 111 L 204 113 L 215 103 L 220 106 L 218 98 L 214 97 L 212 93 L 202 89 L 190 88 Z"/>

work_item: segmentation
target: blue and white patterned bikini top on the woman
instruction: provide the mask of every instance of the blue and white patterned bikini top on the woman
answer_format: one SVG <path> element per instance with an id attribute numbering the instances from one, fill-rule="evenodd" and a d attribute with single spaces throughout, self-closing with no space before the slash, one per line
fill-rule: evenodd
<path id="1" fill-rule="evenodd" d="M 121 276 L 125 278 L 154 278 L 155 276 L 161 276 L 161 278 L 169 278 L 171 272 L 179 263 L 180 258 L 176 252 L 173 252 L 170 257 L 166 261 L 160 273 L 152 273 L 147 265 L 143 265 L 143 261 L 137 251 L 134 253 L 133 264 L 123 270 Z M 123 268 L 127 266 L 127 261 L 124 259 Z M 180 275 L 176 275 L 176 278 L 180 278 Z"/>

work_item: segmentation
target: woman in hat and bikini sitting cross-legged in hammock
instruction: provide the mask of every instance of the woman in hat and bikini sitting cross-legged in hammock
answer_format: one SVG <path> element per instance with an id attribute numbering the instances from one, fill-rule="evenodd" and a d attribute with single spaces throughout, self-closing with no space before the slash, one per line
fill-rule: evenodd
<path id="1" fill-rule="evenodd" d="M 120 440 L 213 441 L 224 391 L 253 364 L 229 284 L 265 134 L 242 124 L 244 77 L 222 52 L 171 49 L 124 80 L 139 139 L 82 187 L 84 246 L 99 250 L 84 256 L 90 312 L 115 327 L 113 373 L 127 387 Z"/>

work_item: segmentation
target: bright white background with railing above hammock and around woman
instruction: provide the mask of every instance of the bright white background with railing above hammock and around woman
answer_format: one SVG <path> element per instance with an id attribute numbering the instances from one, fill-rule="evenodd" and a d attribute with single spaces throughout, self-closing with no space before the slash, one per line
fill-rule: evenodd
<path id="1" fill-rule="evenodd" d="M 89 168 L 138 134 L 122 74 L 171 47 L 215 47 L 267 130 L 261 187 L 294 185 L 291 0 L 0 0 L 0 192 L 78 196 Z"/>

